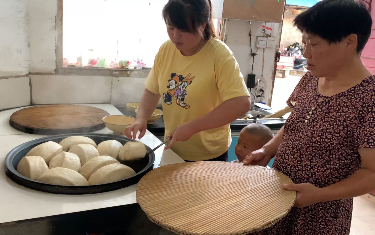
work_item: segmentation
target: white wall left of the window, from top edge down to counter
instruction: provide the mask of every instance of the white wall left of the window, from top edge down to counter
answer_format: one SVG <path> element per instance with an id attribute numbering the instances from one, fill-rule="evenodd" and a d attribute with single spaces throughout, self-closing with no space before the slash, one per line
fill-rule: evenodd
<path id="1" fill-rule="evenodd" d="M 30 104 L 26 15 L 26 0 L 1 1 L 0 109 Z"/>

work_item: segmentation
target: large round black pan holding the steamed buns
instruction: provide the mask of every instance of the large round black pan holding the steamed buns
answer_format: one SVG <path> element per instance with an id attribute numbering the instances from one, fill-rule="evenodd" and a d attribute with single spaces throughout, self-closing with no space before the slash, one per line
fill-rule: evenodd
<path id="1" fill-rule="evenodd" d="M 63 139 L 69 136 L 86 136 L 95 141 L 96 144 L 99 144 L 103 141 L 115 139 L 121 144 L 126 142 L 133 141 L 123 136 L 118 135 L 108 135 L 108 134 L 96 134 L 96 133 L 75 133 L 75 134 L 63 134 L 63 135 L 54 135 L 48 136 L 40 139 L 35 139 L 27 143 L 21 144 L 20 146 L 15 147 L 11 150 L 5 158 L 5 168 L 6 175 L 19 183 L 20 185 L 32 188 L 34 190 L 39 190 L 47 193 L 58 193 L 58 194 L 91 194 L 91 193 L 102 193 L 112 190 L 117 190 L 124 188 L 135 183 L 138 183 L 139 179 L 144 176 L 148 171 L 152 170 L 153 163 L 155 161 L 155 154 L 151 153 L 145 158 L 137 161 L 124 162 L 120 161 L 122 164 L 131 167 L 135 171 L 135 175 L 124 180 L 120 180 L 113 183 L 106 183 L 102 185 L 90 185 L 90 186 L 62 186 L 62 185 L 51 185 L 48 183 L 41 183 L 36 180 L 29 179 L 20 173 L 17 172 L 17 164 L 21 161 L 28 151 L 33 147 L 48 142 L 54 141 L 59 143 Z M 151 150 L 150 147 L 146 146 L 147 152 Z"/>

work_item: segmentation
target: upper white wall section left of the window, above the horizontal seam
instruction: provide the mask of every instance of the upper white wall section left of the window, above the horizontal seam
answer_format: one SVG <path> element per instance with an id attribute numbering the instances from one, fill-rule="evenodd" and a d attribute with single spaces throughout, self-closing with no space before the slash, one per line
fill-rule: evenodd
<path id="1" fill-rule="evenodd" d="M 0 3 L 0 77 L 28 73 L 26 0 Z"/>

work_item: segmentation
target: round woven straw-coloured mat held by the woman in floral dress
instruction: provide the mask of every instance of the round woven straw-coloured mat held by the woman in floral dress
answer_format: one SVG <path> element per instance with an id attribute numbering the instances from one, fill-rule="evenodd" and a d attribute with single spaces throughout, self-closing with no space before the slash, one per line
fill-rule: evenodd
<path id="1" fill-rule="evenodd" d="M 136 198 L 148 218 L 177 234 L 237 235 L 272 226 L 288 214 L 293 183 L 266 167 L 234 162 L 166 165 L 139 181 Z"/>

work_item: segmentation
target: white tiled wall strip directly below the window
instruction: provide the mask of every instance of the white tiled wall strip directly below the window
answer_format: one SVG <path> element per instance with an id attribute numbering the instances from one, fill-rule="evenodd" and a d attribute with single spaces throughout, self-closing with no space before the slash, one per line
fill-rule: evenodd
<path id="1" fill-rule="evenodd" d="M 32 102 L 111 103 L 124 106 L 127 102 L 139 102 L 145 80 L 145 77 L 31 75 Z"/>

